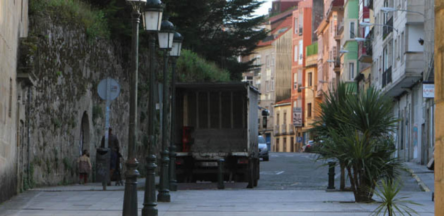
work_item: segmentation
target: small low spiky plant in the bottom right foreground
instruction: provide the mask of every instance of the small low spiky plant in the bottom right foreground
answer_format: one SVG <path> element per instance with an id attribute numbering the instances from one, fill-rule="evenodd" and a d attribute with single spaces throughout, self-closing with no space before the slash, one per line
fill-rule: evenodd
<path id="1" fill-rule="evenodd" d="M 372 216 L 388 215 L 395 216 L 396 213 L 402 216 L 411 216 L 418 213 L 410 208 L 410 205 L 420 205 L 418 203 L 406 200 L 408 197 L 397 197 L 402 185 L 398 180 L 381 180 L 380 184 L 376 185 L 374 194 L 379 197 L 382 202 L 374 211 Z"/>

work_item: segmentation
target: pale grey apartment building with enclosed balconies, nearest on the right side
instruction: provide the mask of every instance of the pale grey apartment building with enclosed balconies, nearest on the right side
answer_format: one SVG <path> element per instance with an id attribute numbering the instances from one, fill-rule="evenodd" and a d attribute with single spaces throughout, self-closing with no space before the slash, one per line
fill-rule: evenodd
<path id="1" fill-rule="evenodd" d="M 418 163 L 427 163 L 434 145 L 434 106 L 423 91 L 433 74 L 433 45 L 424 40 L 427 4 L 430 8 L 430 1 L 423 0 L 367 0 L 365 5 L 374 11 L 374 26 L 366 36 L 371 40 L 371 84 L 393 98 L 393 114 L 400 119 L 394 134 L 397 156 Z M 428 43 L 433 44 L 430 26 Z"/>

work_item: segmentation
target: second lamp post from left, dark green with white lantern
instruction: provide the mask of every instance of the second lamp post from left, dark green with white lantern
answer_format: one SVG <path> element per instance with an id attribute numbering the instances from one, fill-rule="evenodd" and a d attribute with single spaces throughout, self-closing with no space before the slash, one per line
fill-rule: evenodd
<path id="1" fill-rule="evenodd" d="M 144 196 L 144 208 L 142 209 L 143 216 L 157 216 L 157 203 L 156 203 L 156 185 L 155 185 L 155 164 L 156 156 L 153 154 L 153 146 L 155 144 L 155 121 L 156 108 L 155 108 L 155 45 L 156 45 L 156 33 L 160 30 L 160 24 L 162 20 L 163 4 L 160 0 L 148 0 L 147 6 L 144 11 L 144 26 L 149 35 L 149 147 L 147 160 L 147 179 L 145 181 L 145 196 Z"/>

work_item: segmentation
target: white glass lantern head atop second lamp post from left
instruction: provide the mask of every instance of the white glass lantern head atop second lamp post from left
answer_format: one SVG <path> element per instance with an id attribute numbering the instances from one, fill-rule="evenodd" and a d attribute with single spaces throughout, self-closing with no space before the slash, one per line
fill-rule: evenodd
<path id="1" fill-rule="evenodd" d="M 162 22 L 163 4 L 160 0 L 147 0 L 144 10 L 144 27 L 148 32 L 158 32 Z"/>

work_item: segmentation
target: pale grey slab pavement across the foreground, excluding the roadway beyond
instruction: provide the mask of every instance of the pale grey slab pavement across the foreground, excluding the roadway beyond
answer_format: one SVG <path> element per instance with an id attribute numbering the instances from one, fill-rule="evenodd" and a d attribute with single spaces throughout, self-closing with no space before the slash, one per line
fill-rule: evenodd
<path id="1" fill-rule="evenodd" d="M 123 193 L 109 191 L 27 191 L 0 205 L 0 216 L 120 216 Z M 354 203 L 352 192 L 324 190 L 179 190 L 170 203 L 158 203 L 159 216 L 368 216 L 377 203 Z M 410 206 L 434 215 L 431 192 L 401 192 L 422 204 Z M 144 191 L 138 191 L 141 215 Z"/>

